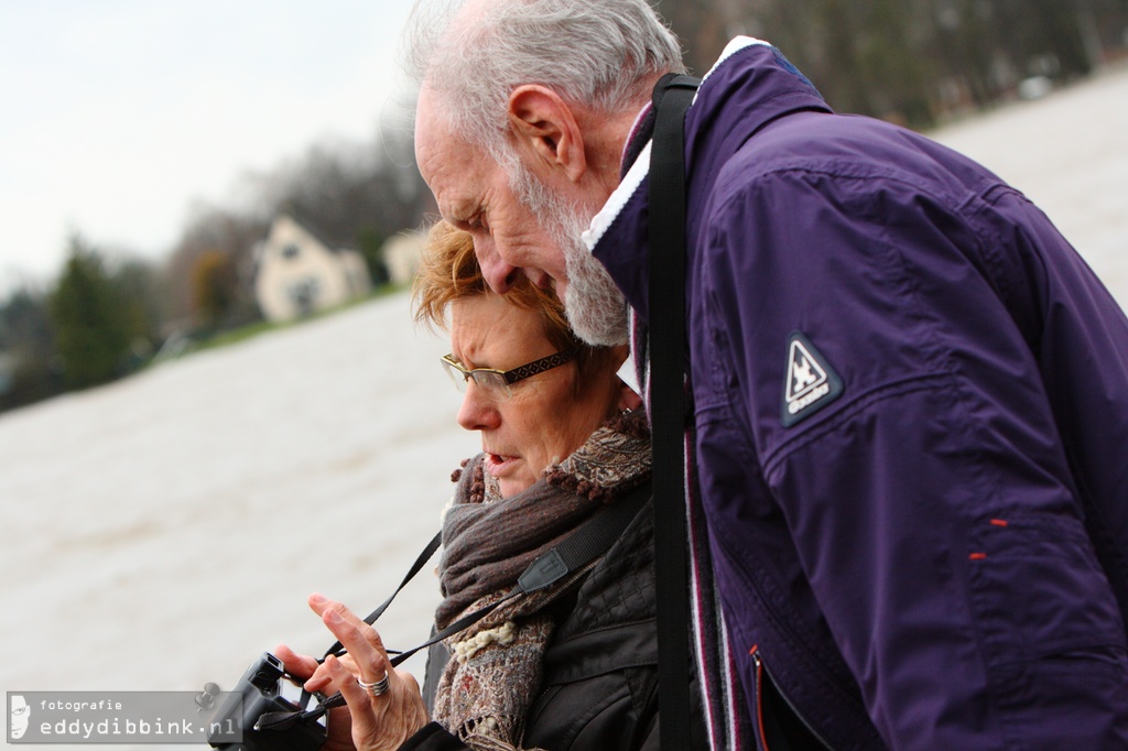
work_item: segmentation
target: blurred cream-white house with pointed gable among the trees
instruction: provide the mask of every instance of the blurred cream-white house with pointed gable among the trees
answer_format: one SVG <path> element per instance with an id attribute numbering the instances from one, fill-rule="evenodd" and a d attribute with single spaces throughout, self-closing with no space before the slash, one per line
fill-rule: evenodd
<path id="1" fill-rule="evenodd" d="M 267 320 L 291 320 L 365 294 L 372 286 L 356 250 L 333 248 L 280 214 L 256 254 L 255 298 Z"/>

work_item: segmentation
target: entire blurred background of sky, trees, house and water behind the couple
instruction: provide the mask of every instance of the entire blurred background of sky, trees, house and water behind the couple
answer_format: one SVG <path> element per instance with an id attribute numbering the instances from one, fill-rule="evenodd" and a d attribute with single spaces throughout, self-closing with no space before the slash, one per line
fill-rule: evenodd
<path id="1" fill-rule="evenodd" d="M 0 691 L 229 689 L 438 529 L 411 0 L 0 0 Z M 968 153 L 1128 303 L 1128 0 L 668 0 Z M 380 628 L 426 636 L 430 569 Z M 420 662 L 411 664 L 420 669 Z"/>

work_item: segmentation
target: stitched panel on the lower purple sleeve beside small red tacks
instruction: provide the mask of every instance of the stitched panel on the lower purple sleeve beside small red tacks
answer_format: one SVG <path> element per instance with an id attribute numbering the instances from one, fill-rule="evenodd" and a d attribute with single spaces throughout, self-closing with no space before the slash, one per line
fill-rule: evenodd
<path id="1" fill-rule="evenodd" d="M 1125 627 L 1081 522 L 990 520 L 968 565 L 988 690 L 1007 734 L 1021 744 L 1068 716 L 1074 748 L 1125 748 Z"/>

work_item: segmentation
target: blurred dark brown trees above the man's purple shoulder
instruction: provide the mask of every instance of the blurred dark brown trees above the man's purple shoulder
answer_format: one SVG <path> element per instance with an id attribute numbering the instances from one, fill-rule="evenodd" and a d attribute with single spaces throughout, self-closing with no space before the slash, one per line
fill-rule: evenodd
<path id="1" fill-rule="evenodd" d="M 1034 98 L 1128 47 L 1125 0 L 695 0 L 660 3 L 696 71 L 735 34 L 779 47 L 839 112 L 928 129 Z"/>

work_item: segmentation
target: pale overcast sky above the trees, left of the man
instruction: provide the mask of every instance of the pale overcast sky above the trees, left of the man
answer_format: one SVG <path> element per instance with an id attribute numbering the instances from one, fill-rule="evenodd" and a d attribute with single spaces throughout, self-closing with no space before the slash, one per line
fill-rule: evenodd
<path id="1" fill-rule="evenodd" d="M 402 113 L 411 0 L 0 0 L 0 292 Z"/>

